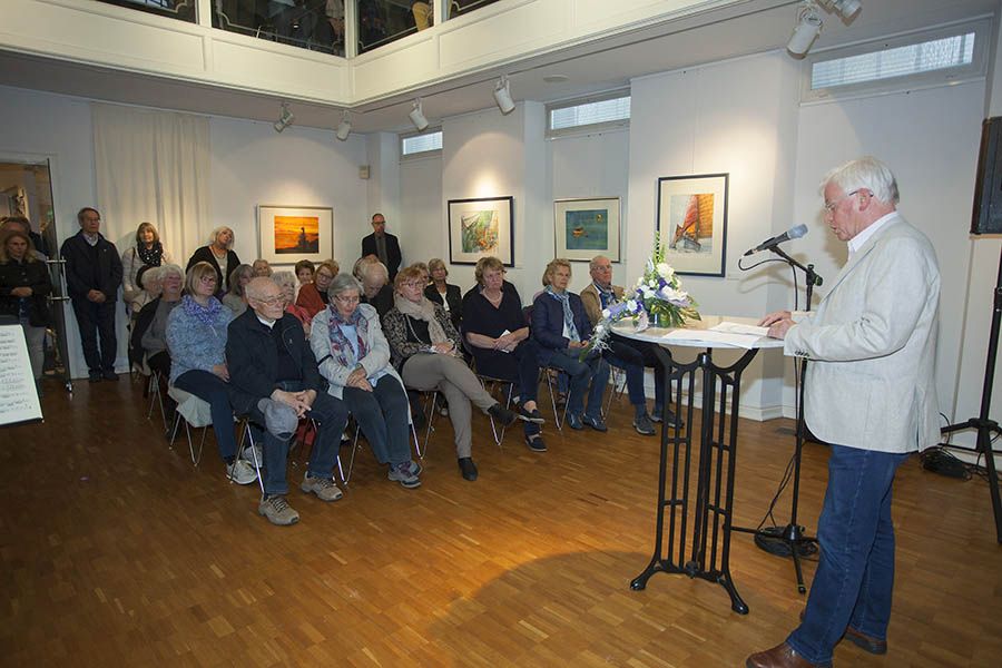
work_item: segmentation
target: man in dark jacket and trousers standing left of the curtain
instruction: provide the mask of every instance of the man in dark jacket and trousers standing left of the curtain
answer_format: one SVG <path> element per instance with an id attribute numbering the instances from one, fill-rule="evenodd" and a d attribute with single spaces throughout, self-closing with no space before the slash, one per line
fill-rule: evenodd
<path id="1" fill-rule="evenodd" d="M 90 370 L 91 383 L 101 379 L 117 381 L 115 297 L 121 285 L 121 259 L 115 244 L 101 236 L 101 215 L 96 208 L 81 208 L 77 222 L 80 232 L 63 242 L 62 259 L 66 261 L 66 284 L 80 328 L 84 358 Z M 100 351 L 98 335 L 101 337 Z"/>

